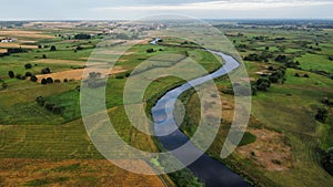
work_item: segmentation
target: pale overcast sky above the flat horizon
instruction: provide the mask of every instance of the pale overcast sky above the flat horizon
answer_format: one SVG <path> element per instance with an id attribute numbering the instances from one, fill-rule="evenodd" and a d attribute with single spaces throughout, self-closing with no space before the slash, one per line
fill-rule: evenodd
<path id="1" fill-rule="evenodd" d="M 0 0 L 0 20 L 113 20 L 159 13 L 200 19 L 333 19 L 333 0 Z"/>

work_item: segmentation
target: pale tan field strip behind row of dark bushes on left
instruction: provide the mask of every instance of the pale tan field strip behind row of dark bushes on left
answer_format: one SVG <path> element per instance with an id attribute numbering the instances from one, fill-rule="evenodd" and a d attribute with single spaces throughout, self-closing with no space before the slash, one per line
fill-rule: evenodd
<path id="1" fill-rule="evenodd" d="M 60 81 L 63 81 L 64 79 L 80 81 L 80 80 L 82 80 L 83 71 L 84 71 L 84 69 L 68 70 L 68 71 L 57 72 L 57 73 L 51 73 L 51 74 L 37 75 L 37 77 L 38 77 L 39 82 L 42 79 L 48 79 L 48 77 L 52 77 L 53 80 L 60 80 Z M 118 74 L 118 73 L 125 72 L 125 70 L 123 70 L 120 66 L 115 66 L 111 71 L 105 70 L 105 69 L 98 69 L 98 67 L 88 67 L 88 69 L 85 69 L 85 71 L 100 72 L 102 75 L 103 74 L 108 74 L 108 75 L 109 74 Z M 87 79 L 87 77 L 83 77 L 83 79 Z"/>

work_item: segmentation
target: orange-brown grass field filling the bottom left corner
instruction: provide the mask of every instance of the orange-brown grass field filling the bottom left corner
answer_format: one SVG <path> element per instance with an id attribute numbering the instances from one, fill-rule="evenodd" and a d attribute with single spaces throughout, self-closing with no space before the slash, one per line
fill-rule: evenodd
<path id="1" fill-rule="evenodd" d="M 144 162 L 141 164 L 151 169 Z M 0 159 L 0 186 L 24 186 L 36 181 L 48 186 L 164 186 L 158 176 L 133 174 L 105 159 Z"/>

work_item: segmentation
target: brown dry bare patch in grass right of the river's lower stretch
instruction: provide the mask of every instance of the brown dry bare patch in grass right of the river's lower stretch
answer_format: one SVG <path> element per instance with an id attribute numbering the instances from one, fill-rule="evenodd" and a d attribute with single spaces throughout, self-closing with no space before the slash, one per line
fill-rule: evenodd
<path id="1" fill-rule="evenodd" d="M 284 134 L 268 129 L 249 129 L 256 142 L 236 149 L 242 156 L 268 170 L 287 170 L 292 167 L 292 150 L 284 143 Z"/>

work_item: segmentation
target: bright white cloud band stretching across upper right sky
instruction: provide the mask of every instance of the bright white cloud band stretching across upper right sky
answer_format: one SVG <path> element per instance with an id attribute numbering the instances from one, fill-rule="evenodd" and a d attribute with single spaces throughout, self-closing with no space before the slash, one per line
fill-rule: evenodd
<path id="1" fill-rule="evenodd" d="M 93 11 L 127 10 L 127 11 L 209 11 L 209 10 L 262 10 L 276 8 L 299 8 L 314 6 L 333 6 L 332 1 L 314 0 L 224 0 L 224 1 L 204 1 L 193 3 L 173 3 L 173 4 L 144 4 L 144 6 L 120 6 L 120 7 L 99 7 Z"/>

